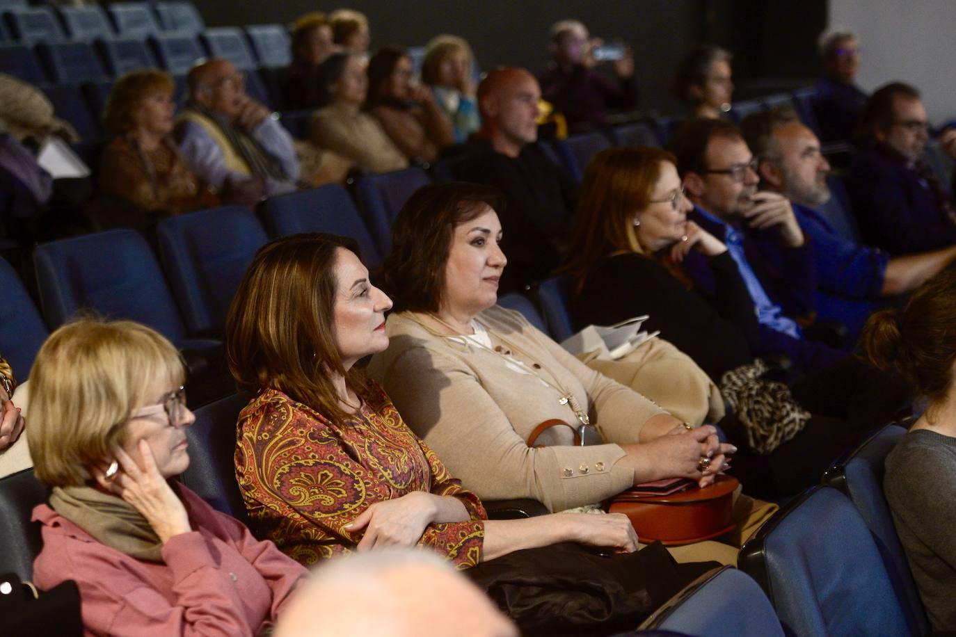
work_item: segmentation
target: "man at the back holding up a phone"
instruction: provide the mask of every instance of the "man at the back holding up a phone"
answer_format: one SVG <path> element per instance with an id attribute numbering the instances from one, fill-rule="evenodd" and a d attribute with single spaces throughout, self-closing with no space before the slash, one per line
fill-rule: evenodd
<path id="1" fill-rule="evenodd" d="M 638 105 L 634 56 L 627 47 L 613 55 L 615 78 L 595 71 L 603 49 L 577 20 L 561 20 L 551 28 L 552 63 L 538 74 L 542 95 L 567 118 L 568 124 L 602 125 L 608 111 Z"/>

